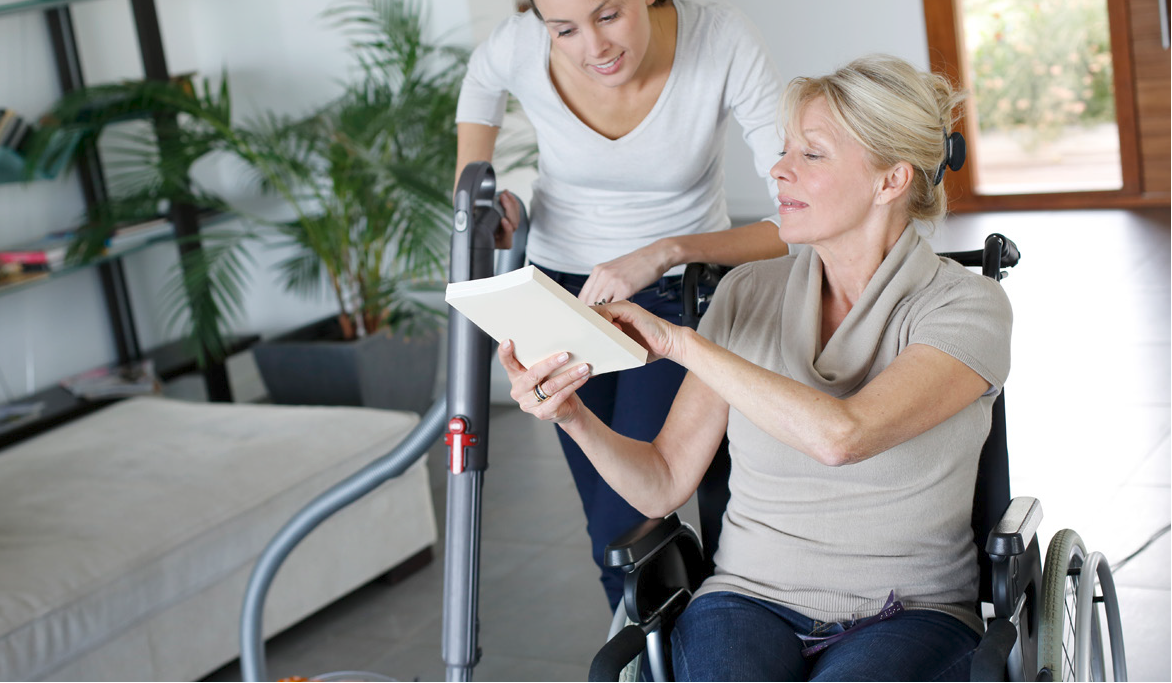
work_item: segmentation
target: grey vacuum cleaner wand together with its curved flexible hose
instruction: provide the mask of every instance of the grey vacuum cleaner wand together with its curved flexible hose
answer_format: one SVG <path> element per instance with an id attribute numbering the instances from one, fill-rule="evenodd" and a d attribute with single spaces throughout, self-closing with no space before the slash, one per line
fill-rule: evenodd
<path id="1" fill-rule="evenodd" d="M 493 232 L 503 212 L 493 210 L 496 176 L 486 163 L 470 164 L 461 175 L 454 218 L 450 281 L 492 274 Z M 463 193 L 459 192 L 463 190 Z M 461 212 L 463 211 L 463 216 Z M 463 224 L 461 223 L 463 220 Z M 520 225 L 513 233 L 513 247 L 503 254 L 500 272 L 512 271 L 525 259 L 527 219 L 522 210 Z M 471 227 L 472 230 L 469 230 Z M 485 243 L 486 239 L 486 243 Z M 488 248 L 488 255 L 485 251 Z M 476 252 L 473 253 L 473 248 Z M 476 266 L 472 266 L 472 264 Z M 486 262 L 486 271 L 485 271 Z M 457 278 L 457 274 L 461 276 Z M 264 681 L 265 642 L 263 616 L 265 599 L 277 571 L 293 548 L 332 514 L 404 472 L 423 456 L 449 428 L 445 442 L 451 452 L 462 456 L 461 465 L 475 460 L 476 467 L 452 473 L 456 459 L 449 456 L 448 532 L 444 565 L 444 661 L 448 677 L 466 681 L 476 664 L 476 603 L 479 569 L 479 514 L 483 470 L 488 466 L 488 397 L 491 342 L 475 326 L 454 310 L 449 312 L 448 395 L 456 396 L 449 410 L 448 395 L 441 396 L 423 415 L 418 425 L 389 453 L 334 485 L 301 508 L 273 537 L 257 559 L 245 589 L 240 614 L 240 671 L 244 681 Z M 454 377 L 458 377 L 454 380 Z M 483 448 L 465 459 L 471 430 L 454 431 L 451 417 L 475 415 L 471 423 L 483 433 Z M 464 423 L 466 425 L 466 422 Z M 458 561 L 452 561 L 452 556 Z M 449 602 L 451 607 L 449 607 Z M 459 623 L 459 620 L 464 620 Z M 449 631 L 456 634 L 451 647 L 461 655 L 449 656 Z M 470 653 L 470 654 L 469 654 Z"/>

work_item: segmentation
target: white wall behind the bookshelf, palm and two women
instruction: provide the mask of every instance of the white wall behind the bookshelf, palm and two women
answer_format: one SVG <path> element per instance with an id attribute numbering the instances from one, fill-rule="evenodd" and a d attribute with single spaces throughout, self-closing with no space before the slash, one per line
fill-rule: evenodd
<path id="1" fill-rule="evenodd" d="M 5 0 L 0 0 L 4 2 Z M 830 70 L 851 57 L 888 52 L 926 66 L 920 0 L 728 0 L 758 26 L 786 80 Z M 230 75 L 236 115 L 260 110 L 295 114 L 338 93 L 352 64 L 343 39 L 320 13 L 331 0 L 156 0 L 168 67 L 172 73 Z M 430 0 L 436 36 L 471 47 L 512 11 L 513 0 Z M 142 68 L 127 0 L 74 5 L 88 82 L 141 77 Z M 0 105 L 39 115 L 59 96 L 43 18 L 38 12 L 0 16 Z M 523 119 L 516 125 L 524 128 Z M 731 213 L 749 218 L 770 212 L 770 198 L 752 177 L 749 152 L 731 127 L 727 191 Z M 223 164 L 200 177 L 237 196 L 252 190 Z M 525 173 L 500 186 L 527 197 Z M 0 246 L 15 245 L 76 225 L 83 204 L 71 177 L 28 185 L 0 185 Z M 231 226 L 229 226 L 231 228 Z M 173 269 L 173 248 L 151 247 L 125 259 L 143 346 L 173 339 L 158 298 Z M 328 301 L 305 301 L 274 284 L 274 250 L 254 250 L 258 267 L 240 332 L 273 334 L 328 313 Z M 0 375 L 14 395 L 114 360 L 105 307 L 96 272 L 73 275 L 0 295 Z M 0 401 L 5 396 L 0 384 Z"/>

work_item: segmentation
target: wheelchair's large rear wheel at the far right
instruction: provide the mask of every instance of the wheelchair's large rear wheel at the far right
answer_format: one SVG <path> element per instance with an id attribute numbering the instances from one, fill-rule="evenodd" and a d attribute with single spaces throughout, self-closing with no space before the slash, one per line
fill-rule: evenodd
<path id="1" fill-rule="evenodd" d="M 1096 596 L 1096 587 L 1102 596 Z M 1050 540 L 1042 573 L 1038 672 L 1054 681 L 1105 681 L 1103 605 L 1116 681 L 1126 681 L 1119 601 L 1102 553 L 1086 553 L 1077 533 L 1064 528 Z"/>

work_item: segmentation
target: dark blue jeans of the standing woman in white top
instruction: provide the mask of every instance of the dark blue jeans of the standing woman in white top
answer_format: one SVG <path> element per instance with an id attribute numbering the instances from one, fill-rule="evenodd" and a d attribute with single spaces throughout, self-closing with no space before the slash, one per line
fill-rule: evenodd
<path id="1" fill-rule="evenodd" d="M 586 284 L 586 275 L 546 268 L 541 271 L 574 296 Z M 680 280 L 680 278 L 661 278 L 632 296 L 631 301 L 668 322 L 680 325 L 683 315 Z M 711 288 L 703 288 L 703 292 L 710 294 Z M 649 442 L 663 426 L 684 374 L 686 370 L 672 361 L 656 361 L 641 368 L 591 377 L 578 390 L 578 397 L 614 431 Z M 586 453 L 566 436 L 566 432 L 561 429 L 557 431 L 566 463 L 574 477 L 574 485 L 578 487 L 578 497 L 586 512 L 586 532 L 591 538 L 594 564 L 601 573 L 602 588 L 613 612 L 622 599 L 624 573 L 604 567 L 602 554 L 608 542 L 647 518 L 602 480 L 594 465 L 586 458 Z"/>

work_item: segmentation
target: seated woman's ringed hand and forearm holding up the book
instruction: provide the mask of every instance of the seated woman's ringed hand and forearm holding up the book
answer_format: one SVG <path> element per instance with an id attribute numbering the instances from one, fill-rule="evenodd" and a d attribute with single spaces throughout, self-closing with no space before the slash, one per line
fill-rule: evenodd
<path id="1" fill-rule="evenodd" d="M 497 354 L 520 408 L 559 424 L 607 484 L 647 517 L 663 517 L 688 500 L 724 436 L 728 404 L 690 374 L 660 435 L 647 443 L 620 436 L 582 405 L 575 391 L 590 378 L 586 366 L 550 377 L 566 364 L 564 354 L 527 369 L 517 361 L 511 342 L 502 343 Z M 538 384 L 548 396 L 545 401 L 534 395 Z"/>

